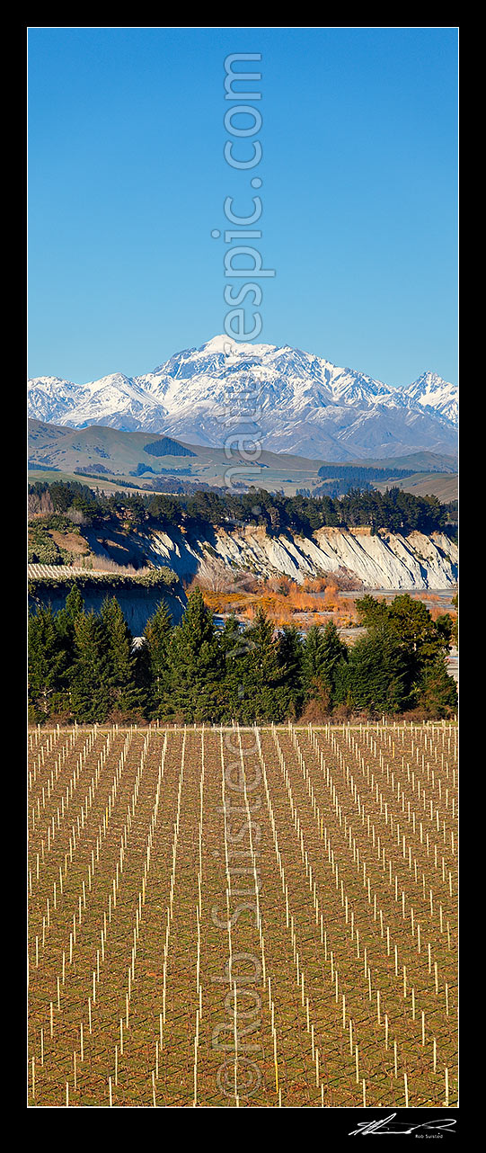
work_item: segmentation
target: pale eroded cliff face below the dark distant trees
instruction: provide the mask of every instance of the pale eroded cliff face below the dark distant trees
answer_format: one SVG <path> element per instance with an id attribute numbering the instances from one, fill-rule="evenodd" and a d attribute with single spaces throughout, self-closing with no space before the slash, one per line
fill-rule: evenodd
<path id="1" fill-rule="evenodd" d="M 263 528 L 246 527 L 188 541 L 181 534 L 154 533 L 150 559 L 169 565 L 180 576 L 208 572 L 223 563 L 233 572 L 256 576 L 275 573 L 298 583 L 305 578 L 347 570 L 364 588 L 443 589 L 457 581 L 457 547 L 441 533 L 410 536 L 369 529 L 318 529 L 312 536 L 268 536 Z"/>

